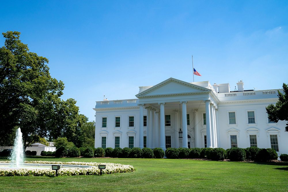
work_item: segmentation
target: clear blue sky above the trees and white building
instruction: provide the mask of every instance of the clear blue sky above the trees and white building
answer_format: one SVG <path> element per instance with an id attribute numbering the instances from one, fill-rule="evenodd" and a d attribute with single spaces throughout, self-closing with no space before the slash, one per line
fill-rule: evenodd
<path id="1" fill-rule="evenodd" d="M 288 83 L 288 1 L 2 1 L 0 32 L 49 59 L 94 120 L 95 101 L 170 77 L 277 89 Z M 4 38 L 0 37 L 0 46 Z"/>

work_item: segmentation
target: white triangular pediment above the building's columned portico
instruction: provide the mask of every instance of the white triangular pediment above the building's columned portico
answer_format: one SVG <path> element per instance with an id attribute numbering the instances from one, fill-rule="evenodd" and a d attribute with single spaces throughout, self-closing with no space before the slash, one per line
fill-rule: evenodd
<path id="1" fill-rule="evenodd" d="M 153 87 L 139 93 L 136 97 L 147 97 L 156 95 L 173 95 L 173 94 L 189 94 L 189 93 L 205 93 L 211 92 L 211 89 L 200 87 L 192 83 L 187 83 L 174 78 L 169 78 Z"/>

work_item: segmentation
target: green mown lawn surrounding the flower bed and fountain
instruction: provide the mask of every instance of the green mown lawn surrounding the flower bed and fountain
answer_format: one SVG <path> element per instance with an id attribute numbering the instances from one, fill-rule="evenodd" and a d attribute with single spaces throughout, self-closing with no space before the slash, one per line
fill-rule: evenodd
<path id="1" fill-rule="evenodd" d="M 0 177 L 0 191 L 288 191 L 288 163 L 45 157 L 26 160 L 111 162 L 130 164 L 136 171 L 102 176 Z"/>

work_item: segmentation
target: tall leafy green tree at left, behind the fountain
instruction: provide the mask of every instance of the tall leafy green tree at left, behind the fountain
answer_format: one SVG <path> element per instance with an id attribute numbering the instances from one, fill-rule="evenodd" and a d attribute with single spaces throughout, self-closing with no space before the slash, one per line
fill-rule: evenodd
<path id="1" fill-rule="evenodd" d="M 48 59 L 29 52 L 20 33 L 2 33 L 0 48 L 0 140 L 10 139 L 20 127 L 24 143 L 39 142 L 40 137 L 75 138 L 76 130 L 87 121 L 78 113 L 74 99 L 64 101 L 64 83 L 52 78 Z"/>

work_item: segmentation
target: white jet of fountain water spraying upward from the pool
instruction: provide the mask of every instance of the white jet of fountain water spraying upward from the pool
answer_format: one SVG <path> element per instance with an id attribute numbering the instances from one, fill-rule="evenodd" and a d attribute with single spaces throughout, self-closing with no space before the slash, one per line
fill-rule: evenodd
<path id="1" fill-rule="evenodd" d="M 11 159 L 11 163 L 14 163 L 17 168 L 20 167 L 20 164 L 24 163 L 24 147 L 20 128 L 18 128 L 16 131 L 16 138 L 14 139 L 14 148 L 11 157 L 9 159 Z"/>

